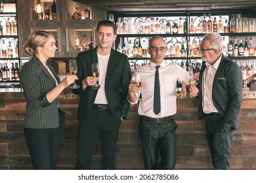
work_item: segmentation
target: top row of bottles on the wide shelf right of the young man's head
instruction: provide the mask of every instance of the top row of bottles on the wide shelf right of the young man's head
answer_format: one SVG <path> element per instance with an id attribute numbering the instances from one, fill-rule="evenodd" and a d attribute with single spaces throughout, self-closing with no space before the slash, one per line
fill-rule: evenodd
<path id="1" fill-rule="evenodd" d="M 236 17 L 236 18 L 235 18 Z M 255 18 L 241 18 L 240 14 L 229 16 L 171 17 L 118 17 L 111 21 L 117 26 L 117 34 L 187 34 L 187 33 L 253 33 Z"/>

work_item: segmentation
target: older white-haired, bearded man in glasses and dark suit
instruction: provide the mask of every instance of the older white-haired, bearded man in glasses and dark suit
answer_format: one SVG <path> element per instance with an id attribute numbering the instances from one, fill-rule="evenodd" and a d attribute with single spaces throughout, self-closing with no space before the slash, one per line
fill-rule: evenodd
<path id="1" fill-rule="evenodd" d="M 229 169 L 234 130 L 239 127 L 238 113 L 242 104 L 242 72 L 238 65 L 225 58 L 223 39 L 219 33 L 203 36 L 202 70 L 199 90 L 198 118 L 205 118 L 205 134 L 214 169 Z"/>

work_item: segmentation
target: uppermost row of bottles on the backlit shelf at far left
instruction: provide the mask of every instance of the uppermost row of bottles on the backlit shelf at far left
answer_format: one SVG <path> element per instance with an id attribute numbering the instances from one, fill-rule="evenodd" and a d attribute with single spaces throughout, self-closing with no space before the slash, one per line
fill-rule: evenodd
<path id="1" fill-rule="evenodd" d="M 16 17 L 0 16 L 0 36 L 1 35 L 18 35 Z"/>

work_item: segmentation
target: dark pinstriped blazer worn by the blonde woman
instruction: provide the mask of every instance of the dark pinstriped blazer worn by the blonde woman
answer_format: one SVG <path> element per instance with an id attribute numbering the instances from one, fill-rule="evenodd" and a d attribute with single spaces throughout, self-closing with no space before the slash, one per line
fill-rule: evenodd
<path id="1" fill-rule="evenodd" d="M 47 66 L 53 72 L 56 80 L 60 82 L 53 67 L 48 63 Z M 24 127 L 33 129 L 58 127 L 58 107 L 63 112 L 66 111 L 60 106 L 58 99 L 54 99 L 52 103 L 47 101 L 46 94 L 53 90 L 56 81 L 36 56 L 33 56 L 22 67 L 20 81 L 27 101 Z"/>

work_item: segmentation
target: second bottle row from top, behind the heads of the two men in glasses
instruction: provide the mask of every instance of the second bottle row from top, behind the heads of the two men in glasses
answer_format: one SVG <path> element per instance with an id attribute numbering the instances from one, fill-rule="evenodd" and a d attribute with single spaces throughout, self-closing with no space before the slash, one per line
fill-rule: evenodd
<path id="1" fill-rule="evenodd" d="M 229 42 L 225 39 L 228 37 L 223 37 L 223 54 L 224 56 L 230 57 L 248 57 L 256 56 L 256 39 L 250 37 L 249 43 L 247 37 L 239 37 L 240 43 L 238 44 L 238 38 L 234 38 L 234 43 L 232 37 L 229 37 Z M 132 44 L 133 40 L 133 44 Z M 244 43 L 243 43 L 244 42 Z M 253 44 L 254 43 L 254 44 Z M 128 44 L 128 45 L 127 45 Z M 198 37 L 192 37 L 192 41 L 186 39 L 172 38 L 166 40 L 166 54 L 165 58 L 197 58 L 201 57 L 201 40 Z M 123 46 L 121 46 L 123 45 Z M 127 46 L 126 46 L 127 45 Z M 148 39 L 146 38 L 131 38 L 120 40 L 117 51 L 128 56 L 128 58 L 150 58 L 148 49 Z"/>

